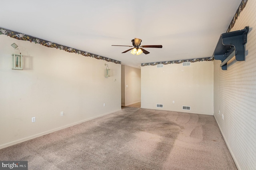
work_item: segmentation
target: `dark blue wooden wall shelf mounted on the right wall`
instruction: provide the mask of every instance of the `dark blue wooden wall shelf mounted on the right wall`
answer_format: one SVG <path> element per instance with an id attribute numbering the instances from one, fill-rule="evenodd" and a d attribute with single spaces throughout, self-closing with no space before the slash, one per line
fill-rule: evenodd
<path id="1" fill-rule="evenodd" d="M 249 26 L 246 26 L 243 30 L 227 32 L 220 35 L 212 57 L 221 60 L 220 67 L 222 70 L 227 70 L 227 63 L 234 56 L 236 56 L 236 61 L 245 61 L 244 44 L 247 42 L 248 31 Z"/>

